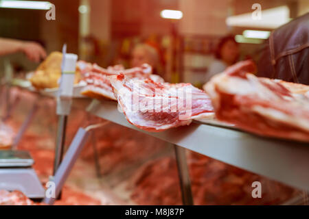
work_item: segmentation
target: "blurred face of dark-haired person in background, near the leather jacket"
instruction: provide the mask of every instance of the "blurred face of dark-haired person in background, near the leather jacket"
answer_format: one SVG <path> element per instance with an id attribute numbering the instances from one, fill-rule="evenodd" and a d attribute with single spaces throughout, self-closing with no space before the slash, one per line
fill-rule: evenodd
<path id="1" fill-rule="evenodd" d="M 225 42 L 221 49 L 221 59 L 229 65 L 234 64 L 238 60 L 239 54 L 238 44 L 233 42 L 233 40 Z"/>

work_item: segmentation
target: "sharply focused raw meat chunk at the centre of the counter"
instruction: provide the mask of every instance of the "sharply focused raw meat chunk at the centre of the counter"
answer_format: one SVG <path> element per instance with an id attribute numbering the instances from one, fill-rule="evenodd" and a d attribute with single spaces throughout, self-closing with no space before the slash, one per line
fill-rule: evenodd
<path id="1" fill-rule="evenodd" d="M 128 122 L 147 131 L 189 125 L 193 118 L 214 112 L 207 94 L 190 83 L 156 83 L 117 75 L 111 76 L 111 84 Z"/>

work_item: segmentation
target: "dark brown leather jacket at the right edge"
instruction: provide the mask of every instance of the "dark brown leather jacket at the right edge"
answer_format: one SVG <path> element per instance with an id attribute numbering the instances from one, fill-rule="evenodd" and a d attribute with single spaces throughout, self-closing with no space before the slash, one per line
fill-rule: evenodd
<path id="1" fill-rule="evenodd" d="M 258 76 L 309 85 L 309 13 L 271 33 Z"/>

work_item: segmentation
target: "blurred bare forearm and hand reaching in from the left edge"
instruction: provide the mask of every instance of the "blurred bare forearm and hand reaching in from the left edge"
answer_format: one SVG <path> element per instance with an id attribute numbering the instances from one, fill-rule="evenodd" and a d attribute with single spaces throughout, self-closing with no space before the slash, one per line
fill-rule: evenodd
<path id="1" fill-rule="evenodd" d="M 32 62 L 40 62 L 46 57 L 46 52 L 40 44 L 21 40 L 0 38 L 0 55 L 23 52 Z"/>

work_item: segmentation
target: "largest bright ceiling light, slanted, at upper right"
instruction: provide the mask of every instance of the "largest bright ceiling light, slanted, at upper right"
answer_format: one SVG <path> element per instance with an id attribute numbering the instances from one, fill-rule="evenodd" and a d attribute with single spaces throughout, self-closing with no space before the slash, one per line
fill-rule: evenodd
<path id="1" fill-rule="evenodd" d="M 253 20 L 252 12 L 229 16 L 226 23 L 227 25 L 233 27 L 276 29 L 277 27 L 280 27 L 290 21 L 290 9 L 288 6 L 280 6 L 277 8 L 262 10 L 260 20 Z"/>

